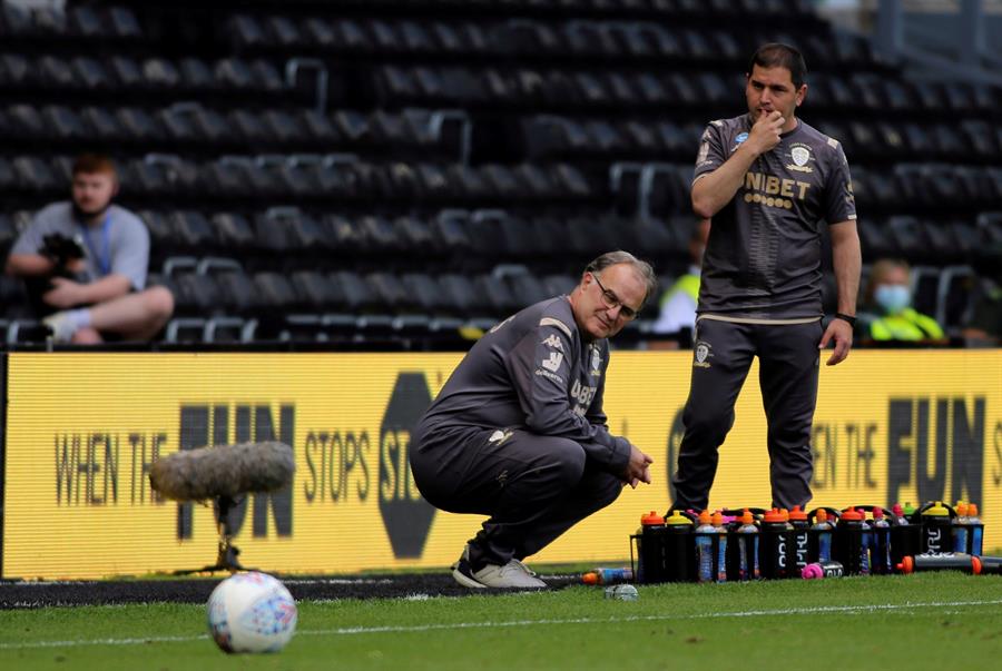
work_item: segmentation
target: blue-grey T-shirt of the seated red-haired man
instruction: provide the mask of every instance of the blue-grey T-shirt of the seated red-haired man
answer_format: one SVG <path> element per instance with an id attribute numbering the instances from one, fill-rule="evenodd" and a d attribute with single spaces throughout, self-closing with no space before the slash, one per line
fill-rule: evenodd
<path id="1" fill-rule="evenodd" d="M 39 254 L 42 238 L 52 233 L 80 243 L 87 262 L 82 282 L 90 283 L 114 274 L 128 277 L 136 290 L 146 287 L 149 231 L 143 220 L 129 210 L 112 205 L 101 221 L 87 226 L 73 218 L 70 201 L 47 205 L 35 215 L 10 253 Z"/>

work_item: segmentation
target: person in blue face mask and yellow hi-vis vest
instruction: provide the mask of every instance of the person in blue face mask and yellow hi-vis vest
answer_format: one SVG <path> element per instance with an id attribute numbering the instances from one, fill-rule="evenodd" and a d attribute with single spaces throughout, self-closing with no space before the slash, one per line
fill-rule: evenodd
<path id="1" fill-rule="evenodd" d="M 859 325 L 871 341 L 943 341 L 943 328 L 912 305 L 911 269 L 903 260 L 881 259 L 873 265 Z"/>

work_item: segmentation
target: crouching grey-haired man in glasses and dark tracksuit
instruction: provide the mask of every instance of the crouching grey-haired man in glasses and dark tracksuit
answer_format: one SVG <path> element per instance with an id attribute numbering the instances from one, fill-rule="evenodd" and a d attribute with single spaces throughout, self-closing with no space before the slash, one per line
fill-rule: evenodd
<path id="1" fill-rule="evenodd" d="M 432 505 L 490 515 L 452 575 L 468 588 L 544 588 L 522 564 L 619 496 L 650 483 L 649 456 L 606 426 L 607 338 L 654 295 L 651 267 L 611 251 L 569 296 L 509 317 L 470 349 L 411 438 Z"/>

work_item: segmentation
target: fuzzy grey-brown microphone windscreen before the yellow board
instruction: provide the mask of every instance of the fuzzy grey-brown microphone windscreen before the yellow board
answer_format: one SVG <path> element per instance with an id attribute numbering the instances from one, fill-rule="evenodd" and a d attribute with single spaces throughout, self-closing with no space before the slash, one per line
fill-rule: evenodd
<path id="1" fill-rule="evenodd" d="M 158 458 L 150 466 L 149 484 L 168 499 L 205 501 L 281 490 L 295 470 L 293 450 L 284 443 L 218 445 Z"/>

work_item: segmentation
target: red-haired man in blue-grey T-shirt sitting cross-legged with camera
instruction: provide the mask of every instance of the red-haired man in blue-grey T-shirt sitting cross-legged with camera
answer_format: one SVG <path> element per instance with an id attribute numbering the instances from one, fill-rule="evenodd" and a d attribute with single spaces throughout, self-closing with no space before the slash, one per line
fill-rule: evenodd
<path id="1" fill-rule="evenodd" d="M 42 208 L 11 248 L 7 273 L 24 278 L 57 343 L 153 338 L 174 312 L 165 287 L 146 288 L 149 233 L 111 199 L 118 174 L 105 156 L 80 156 L 72 199 Z"/>

